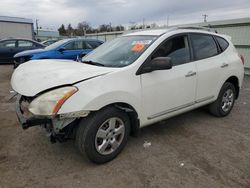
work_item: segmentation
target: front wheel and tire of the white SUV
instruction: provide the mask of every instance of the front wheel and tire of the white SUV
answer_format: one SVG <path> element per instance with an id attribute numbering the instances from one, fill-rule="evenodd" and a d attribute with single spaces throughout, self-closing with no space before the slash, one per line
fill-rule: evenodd
<path id="1" fill-rule="evenodd" d="M 128 115 L 115 107 L 107 107 L 80 121 L 76 146 L 94 163 L 113 160 L 125 147 L 130 133 Z"/>

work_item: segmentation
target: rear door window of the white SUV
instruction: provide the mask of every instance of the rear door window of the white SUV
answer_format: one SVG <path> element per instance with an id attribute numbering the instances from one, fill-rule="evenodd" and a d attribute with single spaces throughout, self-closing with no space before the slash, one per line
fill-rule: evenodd
<path id="1" fill-rule="evenodd" d="M 195 60 L 205 59 L 218 54 L 216 43 L 212 36 L 191 34 Z"/>

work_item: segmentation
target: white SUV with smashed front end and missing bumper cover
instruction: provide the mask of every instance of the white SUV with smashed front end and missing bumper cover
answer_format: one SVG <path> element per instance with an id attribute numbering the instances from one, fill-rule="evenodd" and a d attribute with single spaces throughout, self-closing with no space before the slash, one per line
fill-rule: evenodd
<path id="1" fill-rule="evenodd" d="M 244 59 L 230 37 L 200 28 L 130 33 L 82 62 L 33 60 L 12 75 L 22 127 L 43 125 L 51 141 L 75 139 L 95 163 L 114 159 L 139 128 L 208 105 L 230 113 Z"/>

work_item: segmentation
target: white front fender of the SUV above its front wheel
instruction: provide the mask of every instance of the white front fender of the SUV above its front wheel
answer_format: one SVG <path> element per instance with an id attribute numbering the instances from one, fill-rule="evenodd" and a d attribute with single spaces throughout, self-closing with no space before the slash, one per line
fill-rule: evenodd
<path id="1" fill-rule="evenodd" d="M 111 73 L 76 84 L 78 92 L 65 101 L 58 113 L 97 111 L 113 103 L 126 103 L 141 112 L 140 78 L 126 76 L 124 79 L 122 74 Z"/>

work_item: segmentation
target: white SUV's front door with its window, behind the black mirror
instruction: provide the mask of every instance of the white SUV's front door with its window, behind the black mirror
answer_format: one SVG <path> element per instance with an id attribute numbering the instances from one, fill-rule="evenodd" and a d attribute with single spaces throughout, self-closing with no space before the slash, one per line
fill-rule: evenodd
<path id="1" fill-rule="evenodd" d="M 156 57 L 170 57 L 173 67 L 141 75 L 142 109 L 148 120 L 164 118 L 195 103 L 196 66 L 190 62 L 188 37 L 168 39 L 150 59 Z"/>

